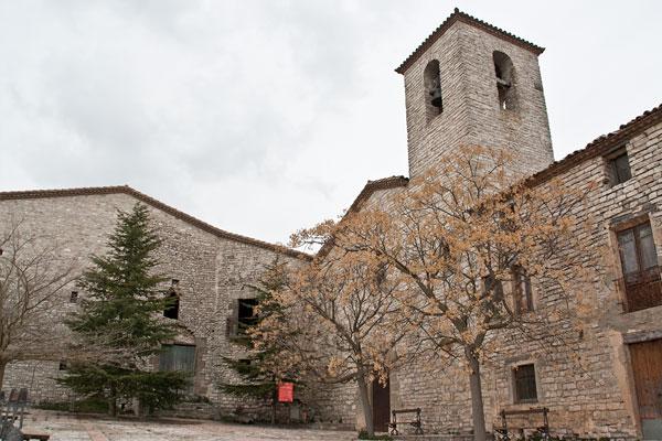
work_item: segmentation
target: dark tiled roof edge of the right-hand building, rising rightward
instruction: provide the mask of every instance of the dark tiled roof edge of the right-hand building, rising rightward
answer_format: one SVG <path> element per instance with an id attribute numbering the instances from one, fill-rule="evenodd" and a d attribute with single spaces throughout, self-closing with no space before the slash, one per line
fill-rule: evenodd
<path id="1" fill-rule="evenodd" d="M 596 138 L 584 149 L 574 151 L 560 161 L 555 161 L 545 170 L 542 170 L 527 178 L 526 181 L 531 185 L 536 185 L 551 178 L 557 176 L 584 161 L 607 153 L 609 150 L 618 147 L 628 139 L 658 122 L 662 122 L 662 104 L 652 108 L 651 110 L 644 111 L 642 115 L 630 120 L 629 122 L 621 125 L 618 130 Z"/>

